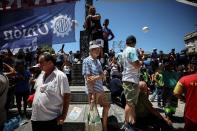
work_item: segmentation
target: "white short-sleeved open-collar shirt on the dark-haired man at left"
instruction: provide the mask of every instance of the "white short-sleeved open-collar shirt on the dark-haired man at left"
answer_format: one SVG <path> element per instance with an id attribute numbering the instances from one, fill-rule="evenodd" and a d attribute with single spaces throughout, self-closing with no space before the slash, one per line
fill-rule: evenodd
<path id="1" fill-rule="evenodd" d="M 44 72 L 36 80 L 32 105 L 33 121 L 53 120 L 62 114 L 64 93 L 70 93 L 66 75 L 57 68 L 44 81 Z"/>

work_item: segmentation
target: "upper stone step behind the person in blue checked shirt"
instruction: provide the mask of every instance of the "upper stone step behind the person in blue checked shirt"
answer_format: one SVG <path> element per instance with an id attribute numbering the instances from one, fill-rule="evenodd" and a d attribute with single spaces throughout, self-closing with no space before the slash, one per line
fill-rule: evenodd
<path id="1" fill-rule="evenodd" d="M 111 92 L 106 86 L 103 86 L 107 99 L 111 102 Z M 85 86 L 70 86 L 71 102 L 74 103 L 88 103 L 88 96 L 85 92 Z"/>

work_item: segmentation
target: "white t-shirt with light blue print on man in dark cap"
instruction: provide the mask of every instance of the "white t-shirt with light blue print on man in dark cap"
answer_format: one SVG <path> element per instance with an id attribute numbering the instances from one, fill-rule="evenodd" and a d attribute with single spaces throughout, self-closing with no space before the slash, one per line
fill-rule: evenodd
<path id="1" fill-rule="evenodd" d="M 139 68 L 135 68 L 131 63 L 139 60 L 137 50 L 133 47 L 126 47 L 122 54 L 123 72 L 122 81 L 133 83 L 139 82 Z"/>

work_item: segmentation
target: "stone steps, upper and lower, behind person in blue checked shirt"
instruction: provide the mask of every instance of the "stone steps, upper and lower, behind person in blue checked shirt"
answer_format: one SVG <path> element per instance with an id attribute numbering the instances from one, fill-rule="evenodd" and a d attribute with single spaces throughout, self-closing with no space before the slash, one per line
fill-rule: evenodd
<path id="1" fill-rule="evenodd" d="M 88 97 L 85 93 L 84 86 L 71 86 L 71 102 L 67 118 L 64 123 L 63 131 L 85 131 L 85 124 L 87 122 L 87 113 L 89 111 Z M 104 86 L 104 90 L 108 100 L 111 102 L 111 93 Z M 98 106 L 98 111 L 102 117 L 103 108 Z M 109 116 L 117 117 L 120 125 L 124 122 L 124 109 L 111 104 Z"/>

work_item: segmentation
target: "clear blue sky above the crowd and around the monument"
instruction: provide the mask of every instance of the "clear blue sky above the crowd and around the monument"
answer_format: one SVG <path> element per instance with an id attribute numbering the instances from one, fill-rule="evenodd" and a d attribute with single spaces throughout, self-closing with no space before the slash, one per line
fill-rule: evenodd
<path id="1" fill-rule="evenodd" d="M 85 0 L 76 2 L 75 19 L 76 42 L 65 43 L 65 52 L 80 50 L 80 31 L 85 20 Z M 153 48 L 169 53 L 172 48 L 180 52 L 185 48 L 184 36 L 197 30 L 197 7 L 179 3 L 175 0 L 94 0 L 97 13 L 110 20 L 109 28 L 115 38 L 109 42 L 109 48 L 116 53 L 125 46 L 129 35 L 137 39 L 136 48 L 152 52 Z M 143 27 L 149 32 L 143 32 Z M 61 44 L 53 45 L 55 51 Z"/>

